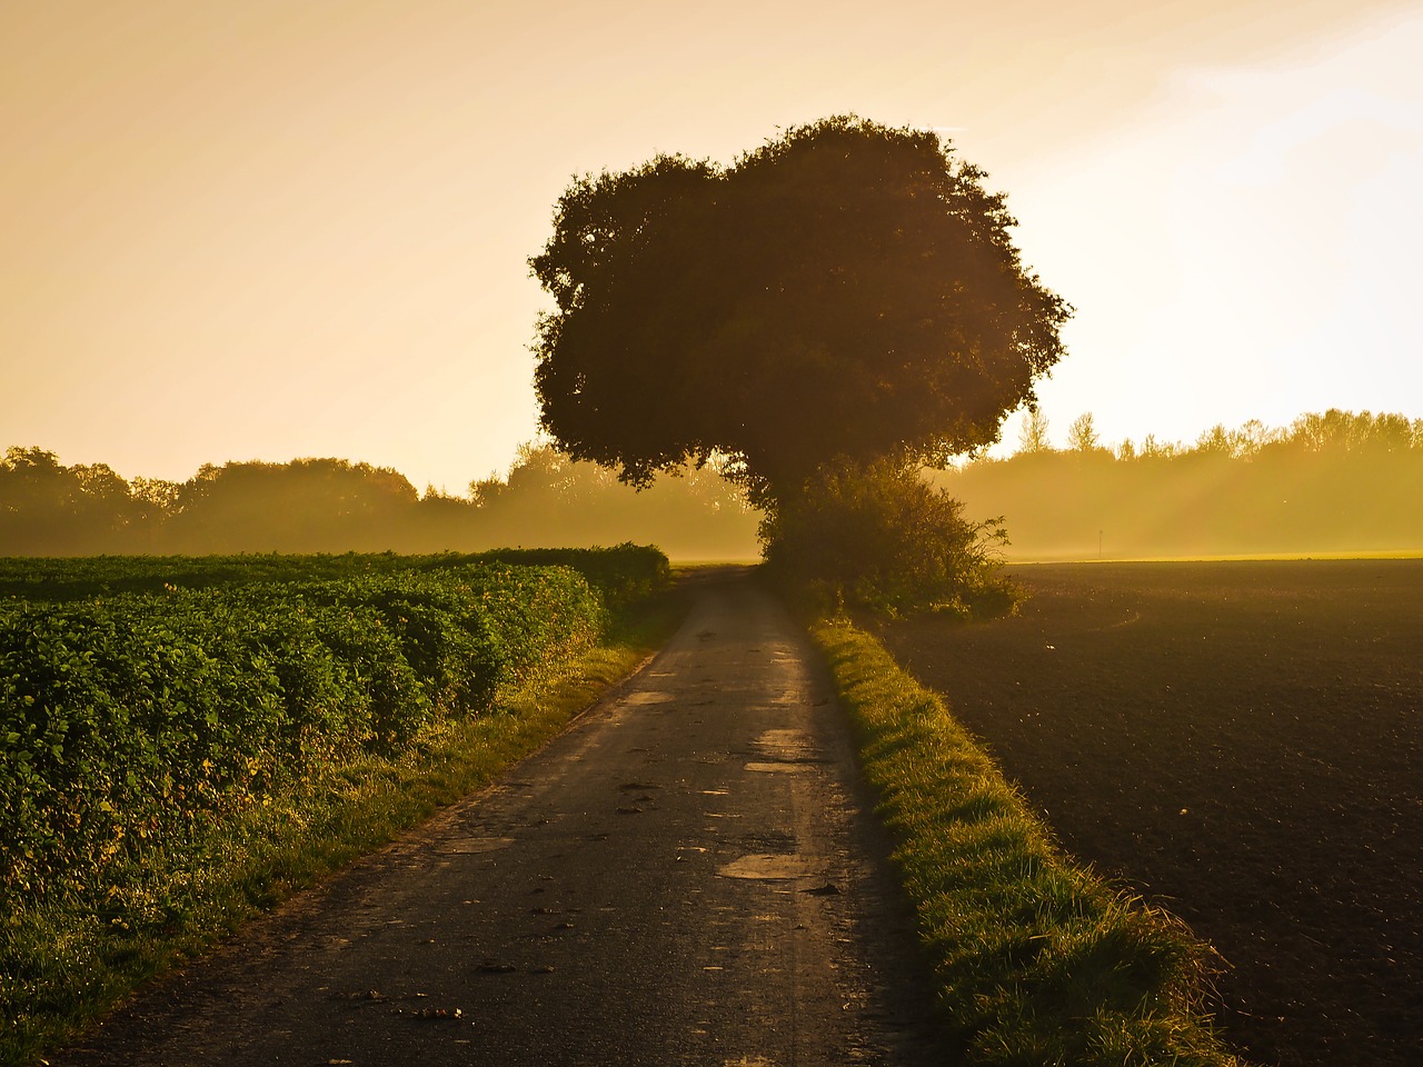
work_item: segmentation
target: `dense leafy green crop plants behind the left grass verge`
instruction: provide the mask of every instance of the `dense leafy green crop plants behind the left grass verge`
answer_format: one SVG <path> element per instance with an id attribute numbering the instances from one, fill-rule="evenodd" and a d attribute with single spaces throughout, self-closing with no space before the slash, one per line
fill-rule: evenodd
<path id="1" fill-rule="evenodd" d="M 615 599 L 666 561 L 599 561 Z M 293 563 L 299 566 L 299 563 Z M 619 576 L 620 573 L 620 576 Z M 97 883 L 144 848 L 591 646 L 571 568 L 467 563 L 0 607 L 0 901 Z"/>

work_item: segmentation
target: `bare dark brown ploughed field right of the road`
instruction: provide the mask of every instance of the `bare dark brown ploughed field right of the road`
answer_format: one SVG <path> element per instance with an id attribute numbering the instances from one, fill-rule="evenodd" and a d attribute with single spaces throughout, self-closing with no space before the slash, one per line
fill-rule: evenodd
<path id="1" fill-rule="evenodd" d="M 1032 599 L 885 646 L 1062 844 L 1224 956 L 1255 1063 L 1416 1063 L 1423 561 L 1013 569 Z"/>

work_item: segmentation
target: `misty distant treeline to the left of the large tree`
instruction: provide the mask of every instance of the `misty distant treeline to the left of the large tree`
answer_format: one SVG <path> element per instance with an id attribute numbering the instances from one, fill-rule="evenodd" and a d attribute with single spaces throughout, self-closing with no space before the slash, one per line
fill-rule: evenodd
<path id="1" fill-rule="evenodd" d="M 205 465 L 185 482 L 125 481 L 41 448 L 0 461 L 0 556 L 240 552 L 481 552 L 656 543 L 675 559 L 758 553 L 760 514 L 712 469 L 643 492 L 609 471 L 525 445 L 468 497 L 417 492 L 400 472 L 346 460 Z"/>

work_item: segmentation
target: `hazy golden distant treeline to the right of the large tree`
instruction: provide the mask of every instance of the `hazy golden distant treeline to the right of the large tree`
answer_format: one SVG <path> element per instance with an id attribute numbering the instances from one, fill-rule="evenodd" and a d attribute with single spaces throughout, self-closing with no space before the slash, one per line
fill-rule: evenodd
<path id="1" fill-rule="evenodd" d="M 1006 519 L 1009 559 L 1423 551 L 1423 420 L 1329 410 L 1109 450 L 1083 415 L 1066 450 L 1042 420 L 1020 445 L 933 475 Z"/>

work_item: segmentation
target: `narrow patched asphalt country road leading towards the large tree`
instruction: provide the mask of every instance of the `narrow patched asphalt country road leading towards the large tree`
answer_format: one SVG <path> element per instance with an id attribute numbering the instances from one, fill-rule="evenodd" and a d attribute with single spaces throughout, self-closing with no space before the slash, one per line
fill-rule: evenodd
<path id="1" fill-rule="evenodd" d="M 51 1063 L 946 1063 L 814 653 L 744 572 L 689 585 L 549 747 Z"/>

